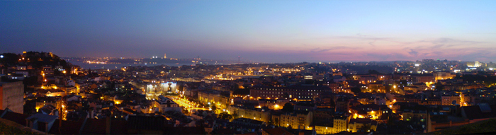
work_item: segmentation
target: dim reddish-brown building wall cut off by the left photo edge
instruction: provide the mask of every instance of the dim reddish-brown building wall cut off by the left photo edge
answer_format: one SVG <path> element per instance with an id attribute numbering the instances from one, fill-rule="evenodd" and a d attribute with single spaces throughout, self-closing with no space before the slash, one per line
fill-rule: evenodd
<path id="1" fill-rule="evenodd" d="M 24 84 L 23 81 L 1 81 L 0 82 L 0 108 L 17 113 L 24 113 Z"/>

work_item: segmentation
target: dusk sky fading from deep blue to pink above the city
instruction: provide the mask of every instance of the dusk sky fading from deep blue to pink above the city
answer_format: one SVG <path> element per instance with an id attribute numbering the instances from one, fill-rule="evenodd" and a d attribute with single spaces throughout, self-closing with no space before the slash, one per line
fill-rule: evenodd
<path id="1" fill-rule="evenodd" d="M 0 53 L 496 61 L 496 1 L 0 1 Z"/>

